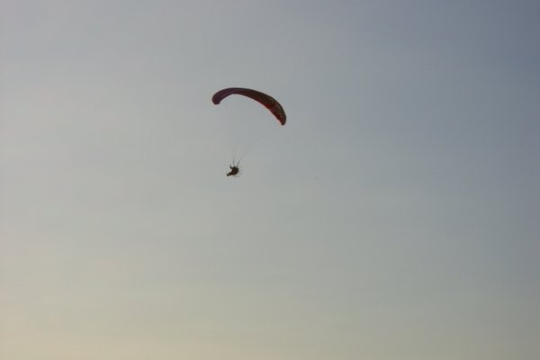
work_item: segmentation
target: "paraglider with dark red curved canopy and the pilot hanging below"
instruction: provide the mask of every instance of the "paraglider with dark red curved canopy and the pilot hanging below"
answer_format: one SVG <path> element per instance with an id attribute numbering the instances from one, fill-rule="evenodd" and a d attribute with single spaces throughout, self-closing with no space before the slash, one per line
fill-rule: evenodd
<path id="1" fill-rule="evenodd" d="M 263 106 L 266 107 L 272 114 L 275 116 L 275 119 L 284 126 L 285 122 L 287 121 L 287 115 L 285 115 L 284 108 L 280 103 L 278 103 L 275 98 L 268 94 L 261 93 L 257 90 L 247 89 L 244 87 L 228 87 L 225 89 L 222 89 L 218 91 L 216 94 L 213 94 L 211 97 L 211 102 L 214 104 L 219 104 L 223 99 L 228 97 L 232 94 L 238 94 L 246 96 L 250 99 L 253 99 L 257 101 L 257 103 L 261 103 Z M 239 163 L 239 161 L 238 161 Z M 235 164 L 235 162 L 232 162 L 232 165 L 229 166 L 230 171 L 227 173 L 227 176 L 237 176 L 239 173 L 239 167 L 238 163 Z"/>

